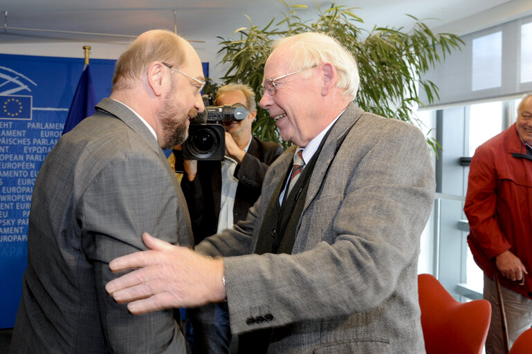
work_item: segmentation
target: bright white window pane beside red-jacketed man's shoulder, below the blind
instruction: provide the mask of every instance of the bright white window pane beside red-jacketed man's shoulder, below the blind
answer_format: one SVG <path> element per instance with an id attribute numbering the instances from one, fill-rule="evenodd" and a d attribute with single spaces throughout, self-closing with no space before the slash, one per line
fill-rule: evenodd
<path id="1" fill-rule="evenodd" d="M 502 131 L 502 102 L 472 104 L 469 111 L 469 155 Z"/>

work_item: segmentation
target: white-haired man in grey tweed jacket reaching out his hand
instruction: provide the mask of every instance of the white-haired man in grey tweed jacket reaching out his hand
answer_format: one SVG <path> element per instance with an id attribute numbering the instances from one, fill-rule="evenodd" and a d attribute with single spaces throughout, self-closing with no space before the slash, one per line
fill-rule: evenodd
<path id="1" fill-rule="evenodd" d="M 424 353 L 417 261 L 434 172 L 423 133 L 355 106 L 356 62 L 326 35 L 277 41 L 264 77 L 260 105 L 296 146 L 246 220 L 197 252 L 143 234 L 152 250 L 110 263 L 140 269 L 107 290 L 132 313 L 226 299 L 232 333 L 256 334 L 253 353 Z"/>

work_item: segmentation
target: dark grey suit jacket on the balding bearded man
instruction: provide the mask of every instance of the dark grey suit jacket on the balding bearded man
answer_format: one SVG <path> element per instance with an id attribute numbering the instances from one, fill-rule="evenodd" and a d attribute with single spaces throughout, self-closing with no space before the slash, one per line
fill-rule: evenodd
<path id="1" fill-rule="evenodd" d="M 149 129 L 104 99 L 62 136 L 33 190 L 28 268 L 10 353 L 185 353 L 173 311 L 134 316 L 104 289 L 150 232 L 191 245 L 174 172 Z"/>

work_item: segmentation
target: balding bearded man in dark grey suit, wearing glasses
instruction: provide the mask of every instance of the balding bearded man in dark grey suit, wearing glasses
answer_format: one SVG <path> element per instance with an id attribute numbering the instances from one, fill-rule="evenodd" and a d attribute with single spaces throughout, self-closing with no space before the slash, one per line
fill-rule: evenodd
<path id="1" fill-rule="evenodd" d="M 203 84 L 187 41 L 145 32 L 118 59 L 110 97 L 59 139 L 33 191 L 10 353 L 185 353 L 174 311 L 131 315 L 104 285 L 111 259 L 146 249 L 143 232 L 192 245 L 161 148 L 186 139 Z"/>

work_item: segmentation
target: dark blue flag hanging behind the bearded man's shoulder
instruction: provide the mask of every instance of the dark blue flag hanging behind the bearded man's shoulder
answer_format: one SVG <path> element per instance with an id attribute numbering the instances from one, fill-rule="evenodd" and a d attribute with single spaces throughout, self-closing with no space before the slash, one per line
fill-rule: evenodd
<path id="1" fill-rule="evenodd" d="M 91 71 L 89 71 L 89 65 L 86 65 L 81 74 L 80 82 L 77 83 L 74 99 L 64 124 L 63 134 L 71 131 L 84 118 L 93 115 L 95 113 L 94 106 L 97 103 Z"/>

